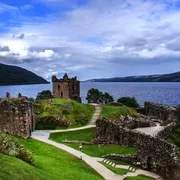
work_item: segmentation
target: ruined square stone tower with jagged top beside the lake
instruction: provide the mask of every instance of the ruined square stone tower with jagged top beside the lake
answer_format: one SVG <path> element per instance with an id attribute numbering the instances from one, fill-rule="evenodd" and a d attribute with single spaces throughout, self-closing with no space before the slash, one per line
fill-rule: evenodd
<path id="1" fill-rule="evenodd" d="M 53 97 L 66 98 L 80 101 L 80 81 L 74 78 L 69 78 L 67 73 L 64 74 L 62 79 L 57 79 L 52 76 L 52 89 Z"/>

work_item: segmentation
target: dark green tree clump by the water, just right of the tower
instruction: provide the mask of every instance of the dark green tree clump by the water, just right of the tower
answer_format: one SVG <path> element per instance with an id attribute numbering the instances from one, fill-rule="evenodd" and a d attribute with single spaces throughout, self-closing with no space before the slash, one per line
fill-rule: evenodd
<path id="1" fill-rule="evenodd" d="M 104 94 L 99 91 L 98 89 L 89 89 L 87 93 L 86 100 L 88 103 L 101 103 L 101 104 L 107 104 L 109 102 L 113 102 L 113 97 L 105 92 Z"/>

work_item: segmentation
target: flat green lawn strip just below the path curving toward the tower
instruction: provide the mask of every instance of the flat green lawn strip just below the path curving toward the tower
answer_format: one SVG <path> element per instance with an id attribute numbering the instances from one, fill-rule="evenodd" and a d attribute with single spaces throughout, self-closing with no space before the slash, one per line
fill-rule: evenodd
<path id="1" fill-rule="evenodd" d="M 63 140 L 90 141 L 96 137 L 96 128 L 70 132 L 51 133 L 49 139 L 62 143 Z"/>

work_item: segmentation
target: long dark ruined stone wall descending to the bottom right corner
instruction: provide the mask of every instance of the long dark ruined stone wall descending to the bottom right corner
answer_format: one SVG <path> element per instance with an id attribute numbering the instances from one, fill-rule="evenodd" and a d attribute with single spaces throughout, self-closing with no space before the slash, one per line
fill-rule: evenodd
<path id="1" fill-rule="evenodd" d="M 96 121 L 96 129 L 97 141 L 134 146 L 143 166 L 147 166 L 148 159 L 151 159 L 153 172 L 167 179 L 180 179 L 180 162 L 176 146 L 163 139 L 122 128 L 105 118 Z"/>

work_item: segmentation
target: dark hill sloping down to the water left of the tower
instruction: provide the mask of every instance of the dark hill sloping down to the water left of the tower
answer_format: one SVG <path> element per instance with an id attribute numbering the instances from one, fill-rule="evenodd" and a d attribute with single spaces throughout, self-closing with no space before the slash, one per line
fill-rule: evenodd
<path id="1" fill-rule="evenodd" d="M 42 77 L 26 69 L 0 63 L 0 85 L 47 84 Z"/>

